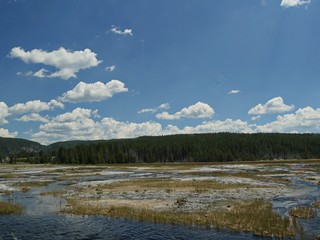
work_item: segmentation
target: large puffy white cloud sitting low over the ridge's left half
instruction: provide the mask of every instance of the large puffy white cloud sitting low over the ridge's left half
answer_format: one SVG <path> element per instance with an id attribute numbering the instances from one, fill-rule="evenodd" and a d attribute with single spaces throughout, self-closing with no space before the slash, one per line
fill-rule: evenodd
<path id="1" fill-rule="evenodd" d="M 158 135 L 161 125 L 155 122 L 121 122 L 113 118 L 95 121 L 97 110 L 76 108 L 52 118 L 40 125 L 39 132 L 32 135 L 35 141 L 48 144 L 65 140 L 97 140 L 130 138 L 141 135 Z"/>

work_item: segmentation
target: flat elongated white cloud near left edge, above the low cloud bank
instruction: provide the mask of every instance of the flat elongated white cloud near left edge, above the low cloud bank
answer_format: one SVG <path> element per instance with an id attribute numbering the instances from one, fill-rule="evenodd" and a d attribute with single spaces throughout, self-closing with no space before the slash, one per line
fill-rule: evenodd
<path id="1" fill-rule="evenodd" d="M 9 107 L 9 114 L 37 113 L 41 111 L 53 110 L 54 108 L 63 108 L 64 105 L 57 100 L 50 102 L 41 102 L 40 100 L 28 101 L 26 103 L 17 103 Z"/>

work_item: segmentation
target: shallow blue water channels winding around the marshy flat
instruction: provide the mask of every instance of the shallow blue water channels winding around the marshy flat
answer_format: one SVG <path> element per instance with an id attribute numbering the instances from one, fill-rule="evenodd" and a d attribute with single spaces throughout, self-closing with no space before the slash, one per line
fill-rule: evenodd
<path id="1" fill-rule="evenodd" d="M 284 169 L 286 167 L 281 167 Z M 24 172 L 26 179 L 47 178 L 41 171 Z M 256 237 L 250 233 L 239 233 L 215 228 L 190 227 L 181 225 L 164 225 L 143 223 L 126 219 L 113 219 L 104 216 L 74 216 L 61 214 L 59 210 L 65 201 L 41 192 L 59 191 L 70 183 L 95 181 L 114 181 L 139 177 L 177 177 L 176 172 L 121 172 L 117 174 L 81 177 L 78 179 L 59 180 L 46 187 L 34 187 L 27 193 L 14 192 L 12 195 L 0 195 L 0 199 L 21 203 L 25 206 L 22 215 L 0 216 L 0 239 L 270 239 Z M 181 176 L 180 176 L 181 177 Z M 290 177 L 294 195 L 281 196 L 273 200 L 275 211 L 288 216 L 290 208 L 297 205 L 311 205 L 320 199 L 320 188 L 315 183 L 304 181 L 299 177 Z M 0 184 L 8 180 L 0 179 Z M 21 181 L 21 179 L 19 180 Z M 304 234 L 296 239 L 313 239 L 320 235 L 320 211 L 317 217 L 299 220 Z"/>

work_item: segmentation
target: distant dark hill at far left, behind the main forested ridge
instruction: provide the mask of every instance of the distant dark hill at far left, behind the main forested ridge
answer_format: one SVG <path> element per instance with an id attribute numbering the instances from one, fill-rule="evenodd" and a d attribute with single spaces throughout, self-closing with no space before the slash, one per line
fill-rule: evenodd
<path id="1" fill-rule="evenodd" d="M 0 156 L 18 154 L 24 152 L 38 152 L 44 150 L 45 146 L 40 143 L 21 139 L 21 138 L 3 138 L 0 137 Z"/>

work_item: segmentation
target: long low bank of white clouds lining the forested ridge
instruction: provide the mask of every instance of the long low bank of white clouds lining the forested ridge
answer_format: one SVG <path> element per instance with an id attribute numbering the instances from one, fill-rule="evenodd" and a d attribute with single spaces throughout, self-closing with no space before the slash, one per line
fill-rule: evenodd
<path id="1" fill-rule="evenodd" d="M 43 144 L 65 140 L 97 140 L 134 138 L 139 136 L 159 136 L 169 134 L 193 134 L 215 132 L 320 132 L 320 108 L 305 107 L 295 113 L 278 116 L 277 120 L 264 124 L 249 124 L 240 119 L 224 121 L 204 121 L 196 126 L 179 128 L 175 125 L 163 127 L 160 123 L 146 121 L 141 123 L 123 122 L 105 117 L 95 119 L 97 110 L 76 108 L 49 119 L 41 124 L 37 133 L 31 133 L 32 139 Z M 6 135 L 8 131 L 2 130 Z M 16 135 L 13 133 L 11 135 Z"/>

